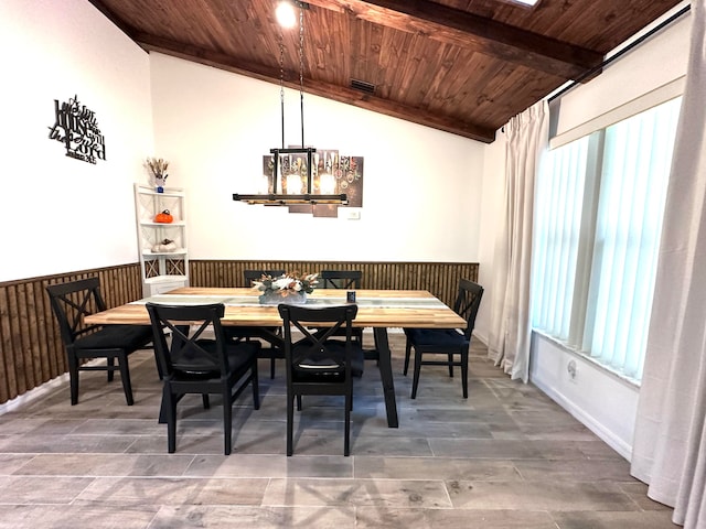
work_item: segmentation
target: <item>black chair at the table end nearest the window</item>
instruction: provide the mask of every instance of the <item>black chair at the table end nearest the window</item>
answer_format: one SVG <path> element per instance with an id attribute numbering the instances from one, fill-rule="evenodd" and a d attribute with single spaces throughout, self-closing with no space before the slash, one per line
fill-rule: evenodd
<path id="1" fill-rule="evenodd" d="M 466 328 L 404 328 L 407 337 L 405 345 L 405 368 L 407 375 L 409 368 L 409 356 L 415 349 L 415 371 L 411 381 L 411 398 L 417 398 L 417 387 L 419 386 L 419 371 L 421 366 L 448 366 L 449 376 L 453 377 L 453 367 L 461 368 L 461 386 L 463 398 L 468 399 L 468 349 L 471 345 L 471 336 L 475 325 L 475 316 L 481 305 L 483 288 L 461 279 L 459 291 L 453 303 L 453 311 L 466 320 Z M 437 359 L 424 359 L 425 356 Z M 442 355 L 445 359 L 438 359 Z"/>

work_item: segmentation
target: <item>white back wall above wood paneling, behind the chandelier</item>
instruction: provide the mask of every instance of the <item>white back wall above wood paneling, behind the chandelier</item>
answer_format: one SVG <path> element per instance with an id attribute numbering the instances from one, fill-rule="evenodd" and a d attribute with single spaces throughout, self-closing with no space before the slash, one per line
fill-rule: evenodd
<path id="1" fill-rule="evenodd" d="M 306 143 L 364 156 L 360 220 L 233 202 L 280 147 L 279 86 L 157 53 L 150 66 L 154 154 L 189 193 L 192 259 L 479 260 L 483 143 L 304 95 Z M 285 107 L 299 144 L 298 91 Z"/>

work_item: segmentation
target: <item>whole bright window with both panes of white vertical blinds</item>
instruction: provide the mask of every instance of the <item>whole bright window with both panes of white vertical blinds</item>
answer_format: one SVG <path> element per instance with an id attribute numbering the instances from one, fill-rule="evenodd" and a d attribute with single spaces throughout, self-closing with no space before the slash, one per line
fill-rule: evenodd
<path id="1" fill-rule="evenodd" d="M 557 148 L 537 180 L 533 326 L 640 380 L 681 99 Z"/>

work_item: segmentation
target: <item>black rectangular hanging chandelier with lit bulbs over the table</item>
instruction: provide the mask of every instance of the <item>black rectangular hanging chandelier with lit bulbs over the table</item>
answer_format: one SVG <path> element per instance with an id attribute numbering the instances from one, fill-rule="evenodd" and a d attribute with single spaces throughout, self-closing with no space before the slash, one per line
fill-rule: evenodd
<path id="1" fill-rule="evenodd" d="M 233 194 L 234 201 L 248 204 L 296 205 L 296 204 L 347 204 L 345 194 L 325 194 L 325 185 L 314 186 L 313 147 L 304 147 L 304 10 L 309 4 L 298 0 L 282 0 L 277 8 L 277 17 L 287 19 L 286 9 L 293 6 L 299 8 L 299 100 L 301 119 L 301 147 L 285 148 L 285 45 L 280 35 L 279 41 L 279 99 L 281 111 L 281 147 L 270 149 L 271 181 L 268 192 L 261 194 Z M 289 17 L 291 20 L 291 17 Z M 295 19 L 296 20 L 296 19 Z M 323 176 L 323 175 L 317 175 Z M 318 188 L 315 188 L 318 187 Z"/>

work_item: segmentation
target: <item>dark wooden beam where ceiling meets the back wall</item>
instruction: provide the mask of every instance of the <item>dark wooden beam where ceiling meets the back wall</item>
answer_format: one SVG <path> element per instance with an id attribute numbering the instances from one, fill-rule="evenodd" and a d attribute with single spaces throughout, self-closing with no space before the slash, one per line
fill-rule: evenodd
<path id="1" fill-rule="evenodd" d="M 130 36 L 147 51 L 164 53 L 165 55 L 213 66 L 268 83 L 280 83 L 279 67 L 238 61 L 231 55 L 156 37 L 147 33 L 132 33 Z M 289 88 L 298 90 L 299 74 L 285 72 L 284 84 Z M 312 83 L 304 79 L 304 91 L 334 101 L 431 127 L 452 134 L 470 138 L 483 143 L 492 143 L 495 141 L 495 130 L 493 129 L 462 122 L 456 118 L 439 116 L 438 114 L 429 112 L 420 108 L 404 106 L 352 88 L 320 82 Z"/>

